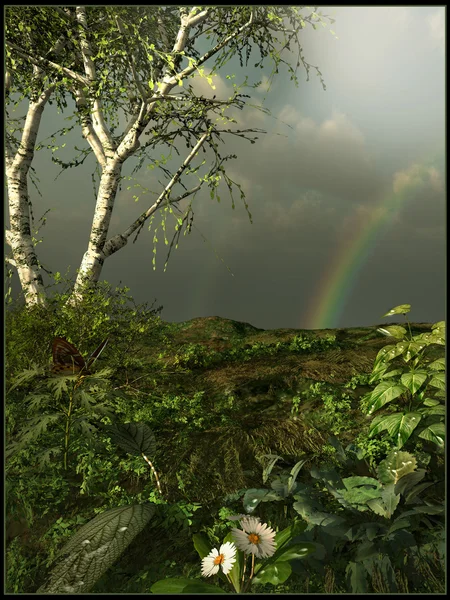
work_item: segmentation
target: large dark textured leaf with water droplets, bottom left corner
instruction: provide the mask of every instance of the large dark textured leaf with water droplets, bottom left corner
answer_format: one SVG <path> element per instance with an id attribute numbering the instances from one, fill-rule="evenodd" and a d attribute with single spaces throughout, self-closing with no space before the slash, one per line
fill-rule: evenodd
<path id="1" fill-rule="evenodd" d="M 113 508 L 83 525 L 58 555 L 38 593 L 86 593 L 113 565 L 155 512 L 151 504 Z"/>

